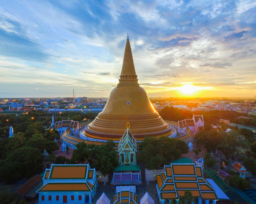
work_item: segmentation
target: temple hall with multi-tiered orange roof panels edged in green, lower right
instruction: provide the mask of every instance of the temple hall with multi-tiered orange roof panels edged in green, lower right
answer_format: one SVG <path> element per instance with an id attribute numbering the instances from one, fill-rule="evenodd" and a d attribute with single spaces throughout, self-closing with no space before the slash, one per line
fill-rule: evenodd
<path id="1" fill-rule="evenodd" d="M 218 197 L 214 188 L 204 178 L 201 166 L 195 164 L 171 164 L 164 166 L 164 172 L 156 175 L 156 189 L 159 202 L 164 204 L 179 199 L 189 190 L 201 204 L 203 200 L 208 204 L 212 200 L 216 204 Z"/>

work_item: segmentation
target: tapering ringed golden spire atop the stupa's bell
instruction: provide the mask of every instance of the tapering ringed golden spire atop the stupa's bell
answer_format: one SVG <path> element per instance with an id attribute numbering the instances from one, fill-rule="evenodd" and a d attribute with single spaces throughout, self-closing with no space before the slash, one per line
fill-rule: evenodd
<path id="1" fill-rule="evenodd" d="M 124 49 L 124 60 L 119 82 L 137 82 L 137 77 L 138 76 L 136 75 L 132 58 L 132 49 L 129 41 L 129 35 L 127 33 L 127 40 Z"/>

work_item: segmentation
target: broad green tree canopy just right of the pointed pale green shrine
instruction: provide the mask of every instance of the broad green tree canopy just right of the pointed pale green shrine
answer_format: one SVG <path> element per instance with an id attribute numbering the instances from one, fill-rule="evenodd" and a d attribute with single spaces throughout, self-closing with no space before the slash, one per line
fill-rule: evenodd
<path id="1" fill-rule="evenodd" d="M 158 169 L 160 165 L 169 165 L 172 159 L 178 159 L 186 153 L 188 145 L 183 141 L 169 137 L 146 137 L 140 143 L 137 159 L 149 169 Z"/>

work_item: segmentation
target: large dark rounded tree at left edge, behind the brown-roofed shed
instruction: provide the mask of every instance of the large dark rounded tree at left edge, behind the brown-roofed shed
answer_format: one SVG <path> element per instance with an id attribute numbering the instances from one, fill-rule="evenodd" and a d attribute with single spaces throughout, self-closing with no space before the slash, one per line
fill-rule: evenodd
<path id="1" fill-rule="evenodd" d="M 21 178 L 30 178 L 42 171 L 43 155 L 37 148 L 22 147 L 14 149 L 0 163 L 0 178 L 14 182 Z"/>

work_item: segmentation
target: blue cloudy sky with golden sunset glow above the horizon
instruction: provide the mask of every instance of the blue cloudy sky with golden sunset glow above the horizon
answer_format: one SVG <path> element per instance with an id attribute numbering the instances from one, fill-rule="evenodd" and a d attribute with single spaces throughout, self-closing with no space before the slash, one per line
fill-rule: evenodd
<path id="1" fill-rule="evenodd" d="M 0 98 L 108 97 L 127 33 L 149 97 L 253 97 L 255 19 L 255 0 L 0 1 Z"/>

